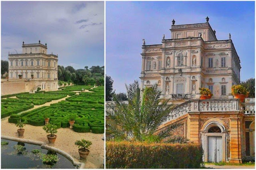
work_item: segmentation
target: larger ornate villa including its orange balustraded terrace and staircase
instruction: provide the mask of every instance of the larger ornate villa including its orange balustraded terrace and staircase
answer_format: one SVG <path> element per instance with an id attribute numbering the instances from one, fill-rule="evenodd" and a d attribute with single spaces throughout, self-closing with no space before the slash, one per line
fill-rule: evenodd
<path id="1" fill-rule="evenodd" d="M 209 18 L 205 23 L 175 25 L 171 39 L 142 45 L 141 89 L 157 83 L 162 100 L 175 105 L 155 134 L 174 123 L 175 135 L 202 144 L 204 162 L 241 163 L 255 156 L 255 100 L 234 99 L 232 85 L 240 84 L 240 59 L 229 34 L 217 40 Z M 211 99 L 200 100 L 200 87 Z M 115 102 L 107 102 L 111 111 Z"/>

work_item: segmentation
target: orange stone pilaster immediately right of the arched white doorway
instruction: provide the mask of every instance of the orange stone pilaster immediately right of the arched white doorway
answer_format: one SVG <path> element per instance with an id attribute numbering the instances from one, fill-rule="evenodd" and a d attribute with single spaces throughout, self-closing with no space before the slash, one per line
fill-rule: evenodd
<path id="1" fill-rule="evenodd" d="M 230 118 L 230 163 L 242 163 L 240 118 Z"/>

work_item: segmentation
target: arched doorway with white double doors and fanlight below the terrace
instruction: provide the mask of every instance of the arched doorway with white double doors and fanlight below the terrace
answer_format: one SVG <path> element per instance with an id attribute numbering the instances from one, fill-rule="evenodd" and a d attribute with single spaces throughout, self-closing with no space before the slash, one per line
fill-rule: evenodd
<path id="1" fill-rule="evenodd" d="M 222 121 L 207 121 L 201 130 L 204 162 L 226 162 L 227 128 Z"/>

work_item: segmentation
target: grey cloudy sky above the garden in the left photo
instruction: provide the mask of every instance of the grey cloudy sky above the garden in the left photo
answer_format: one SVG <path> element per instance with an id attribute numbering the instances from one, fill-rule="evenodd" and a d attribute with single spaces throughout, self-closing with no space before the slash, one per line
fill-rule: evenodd
<path id="1" fill-rule="evenodd" d="M 47 43 L 58 65 L 104 65 L 104 2 L 1 2 L 1 58 L 22 42 Z"/>

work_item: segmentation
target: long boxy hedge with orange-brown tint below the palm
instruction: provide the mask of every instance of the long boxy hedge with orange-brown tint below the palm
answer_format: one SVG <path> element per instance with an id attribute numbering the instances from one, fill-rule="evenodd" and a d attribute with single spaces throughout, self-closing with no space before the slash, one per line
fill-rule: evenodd
<path id="1" fill-rule="evenodd" d="M 198 169 L 202 155 L 198 144 L 106 142 L 107 169 Z"/>

